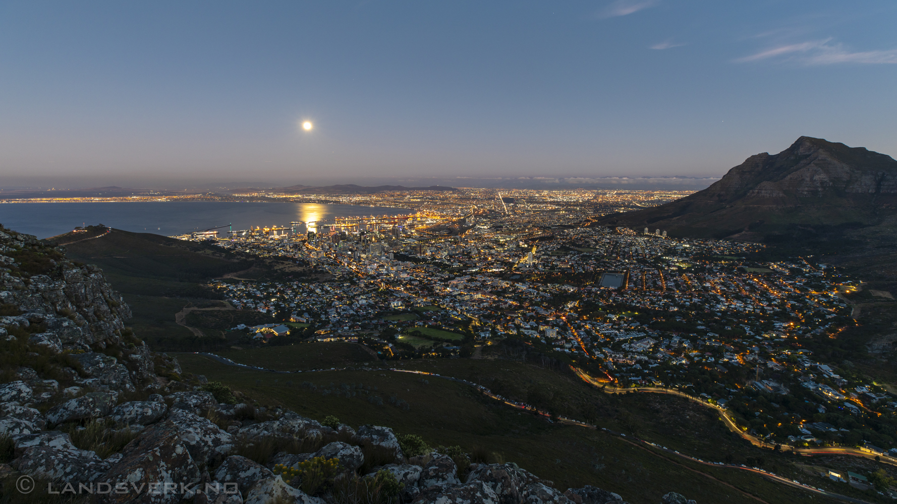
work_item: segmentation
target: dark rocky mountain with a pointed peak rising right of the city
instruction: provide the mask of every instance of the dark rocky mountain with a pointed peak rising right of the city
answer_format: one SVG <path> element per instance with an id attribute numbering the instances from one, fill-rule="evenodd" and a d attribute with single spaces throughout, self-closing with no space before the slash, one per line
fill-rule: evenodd
<path id="1" fill-rule="evenodd" d="M 897 161 L 822 138 L 801 136 L 778 154 L 763 152 L 691 196 L 597 224 L 666 230 L 670 236 L 776 242 L 841 234 L 897 216 Z"/>

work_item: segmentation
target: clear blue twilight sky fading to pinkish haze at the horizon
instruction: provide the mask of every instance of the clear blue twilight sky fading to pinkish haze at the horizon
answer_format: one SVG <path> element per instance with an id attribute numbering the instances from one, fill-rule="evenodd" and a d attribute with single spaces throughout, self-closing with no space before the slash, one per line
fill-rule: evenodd
<path id="1" fill-rule="evenodd" d="M 895 22 L 893 0 L 7 0 L 0 186 L 719 176 L 799 135 L 897 155 Z"/>

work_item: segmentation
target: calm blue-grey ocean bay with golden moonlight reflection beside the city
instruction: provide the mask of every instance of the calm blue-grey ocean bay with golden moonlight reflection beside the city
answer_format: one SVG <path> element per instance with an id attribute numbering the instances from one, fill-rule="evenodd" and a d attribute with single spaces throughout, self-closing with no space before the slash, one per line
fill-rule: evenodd
<path id="1" fill-rule="evenodd" d="M 396 215 L 404 208 L 314 203 L 235 202 L 109 202 L 0 204 L 0 224 L 49 238 L 85 223 L 118 230 L 174 236 L 231 223 L 234 230 L 289 225 L 290 222 L 330 220 L 353 215 Z M 227 229 L 222 229 L 227 231 Z M 226 236 L 222 234 L 220 236 Z"/>

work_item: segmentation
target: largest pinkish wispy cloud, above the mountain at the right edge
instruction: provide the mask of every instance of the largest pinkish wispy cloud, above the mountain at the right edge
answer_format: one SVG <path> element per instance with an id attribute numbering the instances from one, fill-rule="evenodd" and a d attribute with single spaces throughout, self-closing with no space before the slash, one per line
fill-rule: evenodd
<path id="1" fill-rule="evenodd" d="M 736 63 L 777 58 L 797 61 L 804 65 L 834 65 L 838 63 L 897 64 L 897 49 L 851 52 L 832 39 L 814 40 L 768 48 L 750 56 L 737 58 Z"/>

